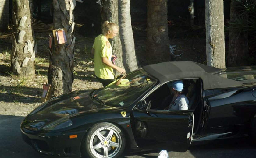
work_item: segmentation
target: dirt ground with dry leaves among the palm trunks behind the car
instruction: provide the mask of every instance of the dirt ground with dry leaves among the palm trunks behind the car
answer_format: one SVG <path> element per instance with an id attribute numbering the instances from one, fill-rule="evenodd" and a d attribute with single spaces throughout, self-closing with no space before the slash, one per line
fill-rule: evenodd
<path id="1" fill-rule="evenodd" d="M 94 37 L 83 34 L 82 25 L 76 25 L 75 36 L 75 64 L 74 82 L 72 91 L 83 89 L 98 89 L 102 85 L 94 75 L 94 61 L 91 56 L 91 47 Z M 146 55 L 146 25 L 133 26 L 135 51 L 140 66 L 147 65 L 150 61 L 145 60 Z M 201 37 L 196 30 L 188 30 L 187 33 L 180 27 L 173 28 L 170 34 L 170 45 L 176 45 L 173 54 L 170 53 L 172 61 L 196 61 L 205 63 L 205 38 Z M 7 35 L 0 33 L 0 35 Z M 34 32 L 37 43 L 36 75 L 32 78 L 18 78 L 10 71 L 10 36 L 0 36 L 0 115 L 26 116 L 34 108 L 40 105 L 43 92 L 43 84 L 48 83 L 48 32 Z M 183 52 L 183 54 L 181 54 Z M 181 55 L 180 55 L 181 54 Z M 179 56 L 177 56 L 179 55 Z M 160 61 L 161 62 L 161 61 Z"/>

